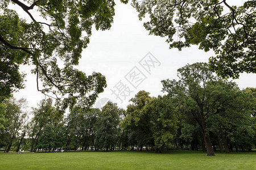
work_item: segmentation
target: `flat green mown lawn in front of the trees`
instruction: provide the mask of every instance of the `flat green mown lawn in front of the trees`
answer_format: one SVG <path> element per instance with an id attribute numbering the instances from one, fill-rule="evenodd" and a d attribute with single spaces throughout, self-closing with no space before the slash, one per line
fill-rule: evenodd
<path id="1" fill-rule="evenodd" d="M 255 160 L 255 152 L 51 152 L 0 154 L 0 169 L 256 169 Z"/>

